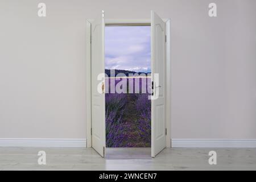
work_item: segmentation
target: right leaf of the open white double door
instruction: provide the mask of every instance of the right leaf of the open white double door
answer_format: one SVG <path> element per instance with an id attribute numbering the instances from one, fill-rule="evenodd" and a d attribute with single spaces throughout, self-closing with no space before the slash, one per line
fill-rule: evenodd
<path id="1" fill-rule="evenodd" d="M 166 24 L 151 11 L 151 58 L 153 93 L 151 100 L 151 156 L 166 147 Z M 155 78 L 158 73 L 158 80 Z"/>

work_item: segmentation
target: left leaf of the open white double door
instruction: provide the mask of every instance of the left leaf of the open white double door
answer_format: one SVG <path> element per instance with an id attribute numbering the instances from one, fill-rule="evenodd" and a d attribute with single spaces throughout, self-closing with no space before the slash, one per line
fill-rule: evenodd
<path id="1" fill-rule="evenodd" d="M 98 75 L 105 73 L 104 65 L 104 13 L 92 23 L 92 147 L 104 157 L 105 150 L 105 94 L 98 92 Z"/>

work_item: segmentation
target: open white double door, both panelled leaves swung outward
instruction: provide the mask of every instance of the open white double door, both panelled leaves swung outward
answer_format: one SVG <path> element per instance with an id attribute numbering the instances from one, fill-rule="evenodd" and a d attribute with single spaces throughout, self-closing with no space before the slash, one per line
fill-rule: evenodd
<path id="1" fill-rule="evenodd" d="M 92 147 L 105 156 L 105 21 L 104 12 L 91 26 L 91 67 L 92 67 Z M 166 147 L 166 24 L 151 11 L 151 156 L 155 157 Z M 103 86 L 102 86 L 103 85 Z"/>

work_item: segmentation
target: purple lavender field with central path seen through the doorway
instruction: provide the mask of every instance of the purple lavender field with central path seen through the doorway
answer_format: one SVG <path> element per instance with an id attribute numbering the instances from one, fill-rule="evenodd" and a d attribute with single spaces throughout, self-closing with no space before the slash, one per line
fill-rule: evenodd
<path id="1" fill-rule="evenodd" d="M 127 93 L 110 93 L 110 81 L 117 85 L 127 79 Z M 139 85 L 128 85 L 128 79 L 139 79 Z M 145 79 L 145 80 L 143 80 Z M 151 78 L 106 78 L 106 147 L 150 147 L 151 145 Z M 143 92 L 146 88 L 147 93 Z M 137 93 L 129 93 L 137 90 Z"/>

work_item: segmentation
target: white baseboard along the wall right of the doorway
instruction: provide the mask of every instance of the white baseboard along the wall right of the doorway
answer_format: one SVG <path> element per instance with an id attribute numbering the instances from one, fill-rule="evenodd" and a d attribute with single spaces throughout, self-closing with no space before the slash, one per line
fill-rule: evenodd
<path id="1" fill-rule="evenodd" d="M 172 139 L 181 148 L 256 148 L 256 139 Z"/>

